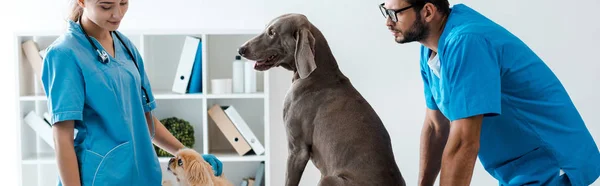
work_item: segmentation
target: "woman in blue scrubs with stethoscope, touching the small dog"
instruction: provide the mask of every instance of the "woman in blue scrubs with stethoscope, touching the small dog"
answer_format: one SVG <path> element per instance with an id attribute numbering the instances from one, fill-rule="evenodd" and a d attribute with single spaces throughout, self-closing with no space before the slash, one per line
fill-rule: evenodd
<path id="1" fill-rule="evenodd" d="M 153 144 L 171 154 L 185 147 L 152 116 L 142 57 L 116 31 L 129 0 L 75 1 L 43 63 L 59 185 L 161 185 Z M 221 162 L 203 157 L 220 175 Z"/>

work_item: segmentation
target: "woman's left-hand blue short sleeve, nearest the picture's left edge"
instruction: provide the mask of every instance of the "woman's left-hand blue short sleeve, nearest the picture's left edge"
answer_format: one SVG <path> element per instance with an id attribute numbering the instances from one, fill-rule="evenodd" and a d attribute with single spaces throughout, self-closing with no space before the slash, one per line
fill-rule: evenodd
<path id="1" fill-rule="evenodd" d="M 53 48 L 43 60 L 41 80 L 52 124 L 83 119 L 84 79 L 81 68 L 71 56 Z"/>

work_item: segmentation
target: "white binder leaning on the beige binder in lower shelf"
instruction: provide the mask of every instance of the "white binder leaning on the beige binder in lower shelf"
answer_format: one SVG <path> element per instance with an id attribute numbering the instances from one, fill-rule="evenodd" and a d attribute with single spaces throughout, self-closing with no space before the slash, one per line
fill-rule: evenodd
<path id="1" fill-rule="evenodd" d="M 235 127 L 238 129 L 238 131 L 240 131 L 240 133 L 244 137 L 244 139 L 246 139 L 246 141 L 250 144 L 250 147 L 252 147 L 254 153 L 256 155 L 263 154 L 265 152 L 265 147 L 263 147 L 258 138 L 256 138 L 246 121 L 244 121 L 244 119 L 242 118 L 242 116 L 240 116 L 237 110 L 235 110 L 235 108 L 232 105 L 226 107 L 224 110 L 225 114 L 227 114 L 233 125 L 235 125 Z"/>

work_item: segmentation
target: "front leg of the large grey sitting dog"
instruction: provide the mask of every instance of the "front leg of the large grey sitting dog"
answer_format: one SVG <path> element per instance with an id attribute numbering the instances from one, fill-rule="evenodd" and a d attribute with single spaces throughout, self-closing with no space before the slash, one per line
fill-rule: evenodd
<path id="1" fill-rule="evenodd" d="M 306 145 L 294 145 L 290 143 L 287 160 L 286 186 L 297 186 L 310 159 L 309 148 Z"/>

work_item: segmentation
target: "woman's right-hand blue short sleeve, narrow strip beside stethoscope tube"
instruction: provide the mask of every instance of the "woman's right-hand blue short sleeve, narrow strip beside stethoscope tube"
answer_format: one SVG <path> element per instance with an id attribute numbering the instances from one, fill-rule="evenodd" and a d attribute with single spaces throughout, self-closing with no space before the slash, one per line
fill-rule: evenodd
<path id="1" fill-rule="evenodd" d="M 123 36 L 122 33 L 118 33 L 118 34 Z M 123 39 L 125 39 L 125 37 L 123 37 Z M 140 71 L 140 77 L 142 78 L 141 83 L 145 90 L 145 92 L 144 92 L 144 90 L 142 90 L 142 104 L 144 107 L 144 112 L 150 112 L 150 111 L 156 109 L 156 101 L 154 99 L 154 93 L 152 92 L 152 86 L 150 85 L 150 80 L 146 73 L 144 60 L 142 58 L 142 55 L 139 53 L 137 47 L 135 47 L 135 45 L 133 45 L 133 43 L 129 39 L 126 39 L 126 42 L 127 42 L 127 47 L 129 47 L 129 49 L 132 50 L 131 52 L 133 53 L 133 55 L 135 57 L 135 61 L 138 64 L 139 71 Z M 146 96 L 148 97 L 148 100 L 146 100 Z"/>

